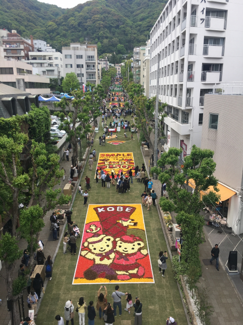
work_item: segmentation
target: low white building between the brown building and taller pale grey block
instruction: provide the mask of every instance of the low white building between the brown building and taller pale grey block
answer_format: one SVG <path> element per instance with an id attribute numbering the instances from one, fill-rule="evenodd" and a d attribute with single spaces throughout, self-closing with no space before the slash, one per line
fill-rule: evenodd
<path id="1" fill-rule="evenodd" d="M 33 74 L 58 78 L 61 84 L 63 56 L 60 52 L 29 52 L 28 63 L 33 66 Z"/>

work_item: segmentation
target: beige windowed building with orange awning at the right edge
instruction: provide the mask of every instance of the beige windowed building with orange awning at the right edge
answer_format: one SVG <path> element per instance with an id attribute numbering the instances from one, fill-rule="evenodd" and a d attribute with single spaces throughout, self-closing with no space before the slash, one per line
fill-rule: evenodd
<path id="1" fill-rule="evenodd" d="M 237 234 L 243 233 L 242 108 L 243 82 L 213 86 L 212 95 L 205 96 L 201 143 L 203 149 L 214 151 L 216 162 L 214 176 L 219 180 L 221 202 L 212 209 L 217 208 Z"/>

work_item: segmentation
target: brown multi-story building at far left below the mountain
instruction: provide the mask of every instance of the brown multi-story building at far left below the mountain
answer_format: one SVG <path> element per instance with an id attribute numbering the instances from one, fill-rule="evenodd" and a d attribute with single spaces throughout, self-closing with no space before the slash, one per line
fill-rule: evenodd
<path id="1" fill-rule="evenodd" d="M 20 37 L 15 30 L 8 33 L 7 37 L 2 37 L 3 51 L 5 58 L 16 58 L 18 60 L 28 60 L 29 52 L 33 51 L 33 38 L 31 41 Z"/>

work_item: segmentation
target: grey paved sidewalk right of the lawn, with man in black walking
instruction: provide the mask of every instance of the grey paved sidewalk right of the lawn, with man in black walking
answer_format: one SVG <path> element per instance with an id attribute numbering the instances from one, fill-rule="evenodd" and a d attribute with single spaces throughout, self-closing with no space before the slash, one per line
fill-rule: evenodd
<path id="1" fill-rule="evenodd" d="M 151 134 L 151 140 L 154 141 L 154 133 Z M 159 152 L 163 147 L 159 146 Z M 164 150 L 163 150 L 164 151 Z M 150 150 L 150 156 L 152 152 Z M 149 156 L 149 157 L 150 157 Z M 144 157 L 146 170 L 148 171 L 149 157 Z M 152 179 L 152 177 L 151 177 Z M 153 188 L 156 191 L 158 200 L 161 196 L 161 182 L 152 179 Z M 158 200 L 157 203 L 158 203 Z M 172 213 L 174 219 L 174 213 Z M 175 219 L 173 220 L 175 222 Z M 199 258 L 202 266 L 202 277 L 199 285 L 208 288 L 209 305 L 212 306 L 213 314 L 210 317 L 211 324 L 217 325 L 243 325 L 243 282 L 240 275 L 228 275 L 226 264 L 230 250 L 237 247 L 239 252 L 243 251 L 243 235 L 233 236 L 225 234 L 219 230 L 204 226 L 205 242 L 199 247 Z M 215 244 L 219 244 L 220 249 L 220 266 L 216 270 L 216 261 L 212 265 L 209 263 L 210 251 Z M 238 252 L 238 270 L 241 268 L 242 257 Z M 242 254 L 242 253 L 241 253 Z"/>

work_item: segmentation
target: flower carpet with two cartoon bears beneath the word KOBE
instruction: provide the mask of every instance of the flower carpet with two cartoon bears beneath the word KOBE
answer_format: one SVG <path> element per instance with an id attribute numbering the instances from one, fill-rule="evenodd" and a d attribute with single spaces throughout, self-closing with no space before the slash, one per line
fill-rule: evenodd
<path id="1" fill-rule="evenodd" d="M 72 284 L 154 283 L 141 204 L 89 204 Z"/>

